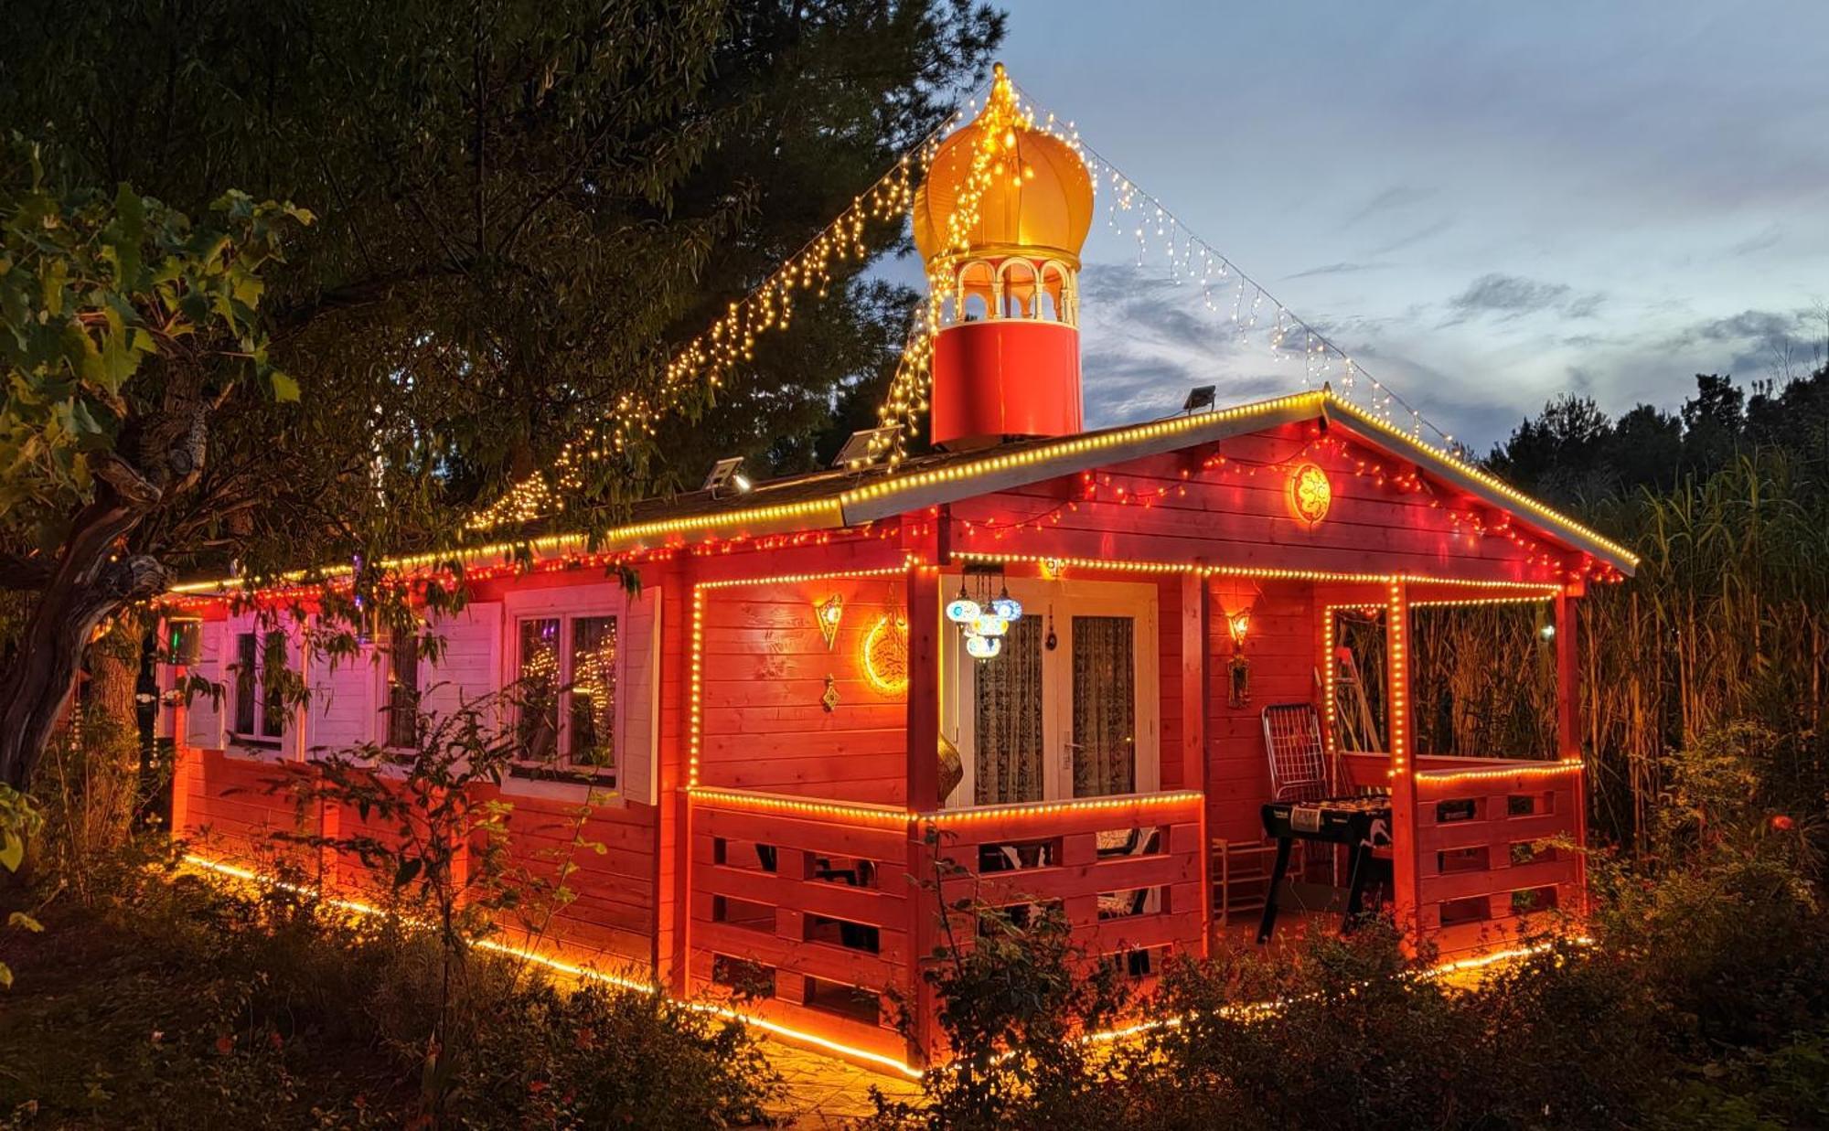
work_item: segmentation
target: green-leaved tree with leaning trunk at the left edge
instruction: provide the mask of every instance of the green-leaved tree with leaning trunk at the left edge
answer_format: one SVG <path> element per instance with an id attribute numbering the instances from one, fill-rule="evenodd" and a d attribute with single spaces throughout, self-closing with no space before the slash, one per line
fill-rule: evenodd
<path id="1" fill-rule="evenodd" d="M 214 414 L 249 386 L 298 399 L 256 315 L 289 221 L 311 216 L 229 194 L 192 227 L 126 185 L 62 198 L 37 152 L 5 172 L 0 529 L 37 602 L 0 679 L 0 781 L 26 783 L 97 624 L 163 591 L 157 558 L 119 551 L 203 474 Z"/>

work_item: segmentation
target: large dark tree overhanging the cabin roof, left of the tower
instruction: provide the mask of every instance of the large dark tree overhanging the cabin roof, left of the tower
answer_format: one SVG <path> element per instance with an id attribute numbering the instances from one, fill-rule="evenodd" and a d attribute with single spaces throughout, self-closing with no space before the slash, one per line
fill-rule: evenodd
<path id="1" fill-rule="evenodd" d="M 660 478 L 666 419 L 715 410 L 704 373 L 669 381 L 680 344 L 938 126 L 1000 29 L 968 0 L 4 5 L 0 130 L 68 185 L 194 214 L 240 185 L 322 216 L 260 307 L 309 395 L 225 403 L 209 461 L 121 549 L 252 584 L 499 540 L 466 518 L 587 426 L 626 443 L 563 522 L 602 529 Z M 856 273 L 902 240 L 834 265 L 843 302 L 803 307 L 801 344 L 878 324 Z M 865 362 L 766 350 L 711 423 L 786 406 L 772 423 L 808 450 Z M 373 569 L 357 587 L 402 593 Z"/>

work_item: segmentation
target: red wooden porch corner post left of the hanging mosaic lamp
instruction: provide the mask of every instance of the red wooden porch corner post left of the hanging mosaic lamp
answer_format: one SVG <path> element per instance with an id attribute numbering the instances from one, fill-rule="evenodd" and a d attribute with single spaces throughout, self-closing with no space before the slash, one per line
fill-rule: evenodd
<path id="1" fill-rule="evenodd" d="M 907 690 L 907 809 L 929 813 L 940 807 L 940 567 L 914 560 L 907 569 L 909 606 L 909 690 Z M 909 820 L 907 899 L 909 957 L 907 1001 L 909 1063 L 925 1067 L 935 1049 L 938 999 L 922 972 L 938 941 L 940 895 L 925 882 L 933 877 L 933 847 L 927 829 Z"/>

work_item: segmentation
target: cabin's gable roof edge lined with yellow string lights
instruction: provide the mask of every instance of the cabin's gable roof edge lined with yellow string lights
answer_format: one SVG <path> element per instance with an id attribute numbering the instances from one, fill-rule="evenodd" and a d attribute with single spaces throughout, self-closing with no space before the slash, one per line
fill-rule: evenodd
<path id="1" fill-rule="evenodd" d="M 951 501 L 1010 490 L 1083 470 L 1178 452 L 1198 445 L 1262 432 L 1278 425 L 1321 419 L 1330 428 L 1342 428 L 1392 456 L 1408 459 L 1428 476 L 1449 483 L 1487 505 L 1513 514 L 1553 540 L 1591 555 L 1624 575 L 1631 575 L 1639 558 L 1624 545 L 1604 538 L 1573 518 L 1524 494 L 1496 476 L 1460 459 L 1456 454 L 1423 443 L 1364 410 L 1342 401 L 1332 390 L 1273 397 L 1216 408 L 1193 415 L 1176 415 L 1143 425 L 1121 425 L 1077 436 L 1024 439 L 995 448 L 971 452 L 942 452 L 905 461 L 894 472 L 887 470 L 821 470 L 757 483 L 744 494 L 715 496 L 693 490 L 671 498 L 653 498 L 635 503 L 629 522 L 609 529 L 596 542 L 600 551 L 655 549 L 671 544 L 675 536 L 715 534 L 779 534 L 794 531 L 827 531 L 861 525 L 909 511 L 946 505 Z M 580 533 L 562 533 L 496 542 L 437 555 L 390 558 L 388 566 L 419 566 L 441 560 L 481 560 L 501 556 L 514 545 L 530 545 L 540 553 L 582 549 L 589 538 Z M 337 573 L 331 569 L 327 573 Z M 194 582 L 174 586 L 176 593 L 207 593 L 223 582 Z"/>

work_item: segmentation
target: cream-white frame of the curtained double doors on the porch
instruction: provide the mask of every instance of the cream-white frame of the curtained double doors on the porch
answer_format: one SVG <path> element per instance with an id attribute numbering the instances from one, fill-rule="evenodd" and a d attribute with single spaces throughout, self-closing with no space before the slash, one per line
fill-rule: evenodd
<path id="1" fill-rule="evenodd" d="M 940 597 L 951 600 L 958 593 L 960 575 L 942 578 Z M 1156 586 L 1139 582 L 1086 582 L 1010 578 L 1010 597 L 1022 602 L 1022 617 L 1035 617 L 1043 637 L 1048 631 L 1048 609 L 1054 608 L 1055 650 L 1043 646 L 1043 798 L 1041 802 L 1074 800 L 1074 750 L 1068 745 L 1074 732 L 1074 617 L 1130 617 L 1136 622 L 1132 650 L 1136 657 L 1136 792 L 1156 792 L 1161 787 L 1161 684 L 1158 681 L 1158 602 Z M 966 582 L 973 591 L 973 582 Z M 1000 659 L 1000 657 L 999 657 Z M 940 628 L 940 728 L 958 747 L 964 778 L 946 798 L 947 809 L 973 809 L 977 802 L 977 736 L 975 712 L 968 708 L 975 695 L 979 662 L 966 655 L 966 637 L 951 620 Z"/>

